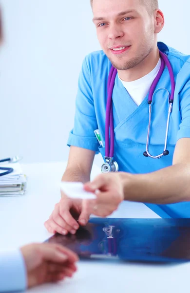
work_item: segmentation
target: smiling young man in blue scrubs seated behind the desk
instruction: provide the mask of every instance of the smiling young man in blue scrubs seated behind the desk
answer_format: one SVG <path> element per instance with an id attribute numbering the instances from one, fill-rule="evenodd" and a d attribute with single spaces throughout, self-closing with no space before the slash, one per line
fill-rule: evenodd
<path id="1" fill-rule="evenodd" d="M 97 199 L 72 200 L 62 194 L 45 227 L 50 232 L 75 233 L 92 212 L 107 216 L 123 200 L 146 203 L 161 217 L 189 217 L 190 56 L 157 42 L 164 26 L 157 0 L 91 0 L 91 4 L 102 51 L 89 54 L 82 64 L 75 125 L 68 140 L 69 161 L 62 180 L 86 183 L 86 190 L 98 190 Z M 143 153 L 149 122 L 148 95 L 161 67 L 159 50 L 171 63 L 175 93 L 169 154 L 152 159 Z M 105 157 L 107 85 L 112 65 L 117 69 L 112 95 L 114 160 L 120 172 L 101 174 L 87 183 L 95 153 L 100 151 Z M 165 66 L 153 95 L 149 142 L 153 156 L 164 150 L 169 93 L 171 78 Z M 95 129 L 99 129 L 103 146 L 95 137 Z"/>

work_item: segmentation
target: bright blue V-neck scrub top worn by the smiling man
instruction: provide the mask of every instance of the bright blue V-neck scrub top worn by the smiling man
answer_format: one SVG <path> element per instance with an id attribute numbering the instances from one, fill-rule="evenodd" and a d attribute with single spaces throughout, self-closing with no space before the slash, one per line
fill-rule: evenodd
<path id="1" fill-rule="evenodd" d="M 116 76 L 113 91 L 114 160 L 118 163 L 119 171 L 139 174 L 169 167 L 172 165 L 177 140 L 184 137 L 190 138 L 190 56 L 168 47 L 163 42 L 158 42 L 158 48 L 168 55 L 176 83 L 167 146 L 170 154 L 158 160 L 143 156 L 146 150 L 149 122 L 148 95 L 137 106 Z M 111 66 L 110 60 L 103 51 L 96 51 L 86 56 L 78 81 L 75 125 L 68 139 L 68 146 L 100 152 L 103 158 L 105 156 L 107 83 Z M 156 89 L 159 88 L 160 90 L 153 97 L 152 105 L 149 144 L 152 155 L 160 154 L 164 149 L 169 102 L 168 93 L 163 88 L 171 93 L 167 67 L 156 86 Z M 100 131 L 103 147 L 97 142 L 95 129 Z M 147 204 L 147 206 L 161 217 L 190 217 L 189 202 L 171 205 Z"/>

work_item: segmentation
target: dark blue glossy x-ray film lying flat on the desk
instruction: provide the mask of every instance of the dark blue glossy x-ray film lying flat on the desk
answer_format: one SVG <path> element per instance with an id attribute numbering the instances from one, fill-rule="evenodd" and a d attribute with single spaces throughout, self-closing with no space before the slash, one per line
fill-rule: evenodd
<path id="1" fill-rule="evenodd" d="M 118 258 L 129 261 L 190 260 L 190 219 L 92 218 L 76 235 L 55 234 L 81 258 Z"/>

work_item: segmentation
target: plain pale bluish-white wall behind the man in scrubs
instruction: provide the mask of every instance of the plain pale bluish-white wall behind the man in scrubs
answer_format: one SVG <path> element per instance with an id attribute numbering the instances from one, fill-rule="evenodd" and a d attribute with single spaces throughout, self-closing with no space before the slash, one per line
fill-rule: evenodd
<path id="1" fill-rule="evenodd" d="M 159 3 L 166 19 L 159 40 L 190 54 L 189 0 Z M 81 63 L 100 49 L 89 0 L 1 0 L 1 6 L 0 158 L 67 160 Z"/>

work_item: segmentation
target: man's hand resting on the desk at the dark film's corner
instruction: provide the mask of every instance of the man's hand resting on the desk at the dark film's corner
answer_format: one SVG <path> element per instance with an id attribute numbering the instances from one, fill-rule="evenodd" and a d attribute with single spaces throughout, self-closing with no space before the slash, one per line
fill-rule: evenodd
<path id="1" fill-rule="evenodd" d="M 44 226 L 50 233 L 58 232 L 62 235 L 67 235 L 70 232 L 75 234 L 79 224 L 81 226 L 87 224 L 90 214 L 82 210 L 82 200 L 68 198 L 62 192 L 61 196 L 61 200 L 55 205 Z"/>

